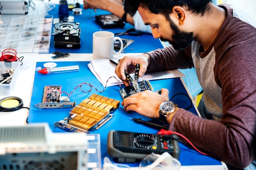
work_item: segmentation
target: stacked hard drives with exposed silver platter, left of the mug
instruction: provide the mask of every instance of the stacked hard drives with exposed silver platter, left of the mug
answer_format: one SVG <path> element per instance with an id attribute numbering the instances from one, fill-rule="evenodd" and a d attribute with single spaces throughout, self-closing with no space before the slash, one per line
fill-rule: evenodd
<path id="1" fill-rule="evenodd" d="M 58 22 L 54 24 L 55 48 L 80 48 L 81 28 L 79 23 Z"/>

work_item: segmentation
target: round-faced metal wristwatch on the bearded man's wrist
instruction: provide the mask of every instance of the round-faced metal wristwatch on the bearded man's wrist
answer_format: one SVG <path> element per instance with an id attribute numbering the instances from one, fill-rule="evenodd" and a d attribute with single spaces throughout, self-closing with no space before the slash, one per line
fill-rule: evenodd
<path id="1" fill-rule="evenodd" d="M 174 102 L 167 101 L 167 102 L 162 102 L 161 105 L 159 106 L 159 120 L 161 122 L 167 122 L 166 118 L 167 116 L 171 115 L 174 113 L 176 110 L 177 105 Z"/>

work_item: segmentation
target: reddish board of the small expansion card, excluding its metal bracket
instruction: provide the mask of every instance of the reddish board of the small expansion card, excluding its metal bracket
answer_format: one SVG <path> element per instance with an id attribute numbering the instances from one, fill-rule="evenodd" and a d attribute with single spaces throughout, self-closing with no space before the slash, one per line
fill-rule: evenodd
<path id="1" fill-rule="evenodd" d="M 45 86 L 42 103 L 60 102 L 61 86 Z"/>

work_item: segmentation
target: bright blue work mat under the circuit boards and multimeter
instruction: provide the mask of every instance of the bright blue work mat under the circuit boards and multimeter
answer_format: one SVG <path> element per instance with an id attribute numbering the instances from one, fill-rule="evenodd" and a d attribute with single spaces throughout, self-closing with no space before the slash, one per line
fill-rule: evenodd
<path id="1" fill-rule="evenodd" d="M 37 62 L 36 66 L 42 67 L 45 62 Z M 86 61 L 68 61 L 68 62 L 56 62 L 58 66 L 68 66 L 68 65 L 79 65 L 78 72 L 67 72 L 67 73 L 59 73 L 59 74 L 40 74 L 38 72 L 35 73 L 33 92 L 30 103 L 30 111 L 28 122 L 48 122 L 50 128 L 53 132 L 65 132 L 63 129 L 54 128 L 54 122 L 58 122 L 59 120 L 63 120 L 67 116 L 69 116 L 70 108 L 67 109 L 37 109 L 34 105 L 42 102 L 43 98 L 43 89 L 46 85 L 61 85 L 62 91 L 70 93 L 77 85 L 80 83 L 90 83 L 99 91 L 103 90 L 103 86 L 97 78 L 90 72 L 88 68 L 88 63 Z M 155 80 L 150 81 L 151 85 L 155 90 L 161 88 L 167 88 L 170 93 L 169 97 L 171 98 L 175 94 L 186 94 L 187 90 L 181 81 L 180 78 L 169 78 L 164 80 Z M 124 85 L 121 86 L 122 88 Z M 82 89 L 84 91 L 90 90 L 88 85 L 83 85 Z M 121 101 L 121 95 L 119 93 L 119 85 L 107 87 L 106 90 L 102 93 L 97 92 L 92 88 L 92 91 L 89 93 L 81 92 L 80 89 L 76 89 L 72 95 L 70 96 L 71 101 L 76 101 L 77 104 L 82 102 L 85 98 L 89 98 L 92 94 L 99 94 L 102 96 L 106 96 L 108 98 L 113 98 L 115 100 Z M 191 104 L 191 100 L 189 97 L 184 95 L 177 95 L 173 98 L 173 102 L 179 105 L 180 108 L 187 108 Z M 197 114 L 197 109 L 193 107 L 188 109 L 192 113 Z M 120 105 L 119 109 L 113 112 L 114 116 L 110 119 L 106 124 L 104 124 L 100 129 L 90 131 L 90 133 L 99 133 L 101 138 L 101 156 L 108 156 L 107 153 L 107 135 L 110 130 L 115 131 L 132 131 L 138 133 L 157 133 L 159 129 L 153 129 L 141 124 L 137 124 L 130 120 L 130 118 L 141 118 L 142 120 L 157 122 L 157 120 L 153 120 L 150 118 L 146 118 L 144 116 L 139 115 L 136 112 L 127 113 L 124 111 L 123 107 Z M 159 123 L 159 122 L 157 122 Z M 180 144 L 181 146 L 181 155 L 179 161 L 184 166 L 188 165 L 211 165 L 217 164 L 221 165 L 221 162 L 208 156 L 201 155 L 197 153 L 195 150 Z M 193 159 L 187 159 L 187 157 L 193 157 Z M 184 159 L 185 158 L 185 159 Z M 111 158 L 110 158 L 111 159 Z M 204 161 L 202 161 L 204 160 Z M 130 166 L 135 166 L 135 164 L 131 164 Z"/>

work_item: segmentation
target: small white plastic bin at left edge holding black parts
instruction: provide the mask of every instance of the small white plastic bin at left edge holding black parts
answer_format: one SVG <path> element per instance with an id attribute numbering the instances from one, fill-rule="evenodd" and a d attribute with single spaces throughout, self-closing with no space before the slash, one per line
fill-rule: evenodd
<path id="1" fill-rule="evenodd" d="M 16 82 L 20 76 L 20 72 L 22 71 L 20 68 L 21 62 L 4 62 L 0 61 L 0 76 L 2 76 L 2 73 L 7 73 L 8 70 L 13 68 L 14 73 L 13 77 L 11 78 L 11 82 L 9 84 L 0 84 L 0 95 L 2 96 L 8 96 L 13 91 Z"/>

